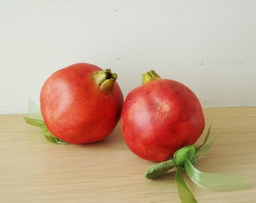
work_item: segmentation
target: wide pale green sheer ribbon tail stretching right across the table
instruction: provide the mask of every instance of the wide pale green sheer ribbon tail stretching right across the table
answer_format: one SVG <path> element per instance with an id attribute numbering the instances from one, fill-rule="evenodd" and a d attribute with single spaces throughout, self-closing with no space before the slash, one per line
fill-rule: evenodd
<path id="1" fill-rule="evenodd" d="M 215 174 L 206 173 L 194 168 L 187 159 L 184 161 L 185 169 L 191 180 L 204 189 L 247 189 L 248 183 L 243 174 Z"/>

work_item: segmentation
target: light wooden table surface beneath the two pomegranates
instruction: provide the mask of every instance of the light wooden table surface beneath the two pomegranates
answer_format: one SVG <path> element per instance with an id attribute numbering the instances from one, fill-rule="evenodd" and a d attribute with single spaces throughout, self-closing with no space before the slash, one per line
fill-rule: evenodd
<path id="1" fill-rule="evenodd" d="M 197 162 L 200 171 L 246 174 L 249 189 L 209 191 L 184 174 L 198 202 L 256 201 L 256 107 L 206 108 L 206 129 L 218 136 Z M 203 136 L 197 141 L 200 144 Z M 52 144 L 23 115 L 0 116 L 1 202 L 181 202 L 174 172 L 143 177 L 154 162 L 135 156 L 118 125 L 96 144 Z"/>

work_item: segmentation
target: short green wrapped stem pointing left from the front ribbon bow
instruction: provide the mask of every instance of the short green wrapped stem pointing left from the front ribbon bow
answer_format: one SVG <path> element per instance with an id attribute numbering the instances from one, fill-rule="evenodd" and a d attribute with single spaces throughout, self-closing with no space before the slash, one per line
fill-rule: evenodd
<path id="1" fill-rule="evenodd" d="M 170 159 L 165 162 L 160 162 L 157 165 L 151 166 L 148 171 L 145 172 L 144 176 L 148 179 L 154 179 L 161 174 L 165 174 L 167 171 L 172 169 L 175 166 L 175 162 L 173 159 Z"/>

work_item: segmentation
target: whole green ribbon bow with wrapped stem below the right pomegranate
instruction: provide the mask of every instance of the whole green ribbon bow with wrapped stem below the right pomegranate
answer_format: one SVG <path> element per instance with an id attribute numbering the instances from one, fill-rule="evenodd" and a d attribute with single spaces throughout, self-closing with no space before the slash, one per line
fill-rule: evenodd
<path id="1" fill-rule="evenodd" d="M 213 136 L 211 141 L 206 144 L 211 131 L 211 126 L 206 133 L 206 138 L 199 147 L 189 145 L 182 147 L 173 154 L 173 158 L 165 162 L 160 162 L 157 165 L 153 165 L 148 171 L 145 172 L 145 177 L 148 179 L 154 179 L 161 174 L 166 173 L 170 169 L 176 167 L 175 180 L 178 187 L 178 194 L 181 198 L 181 202 L 193 203 L 197 202 L 194 198 L 193 193 L 188 188 L 182 177 L 182 171 L 186 171 L 188 177 L 193 180 L 197 186 L 203 189 L 211 190 L 226 190 L 226 189 L 247 189 L 248 183 L 245 175 L 243 174 L 215 174 L 206 173 L 197 170 L 194 165 L 197 160 L 205 157 L 212 149 L 212 145 L 215 141 L 216 134 Z"/>

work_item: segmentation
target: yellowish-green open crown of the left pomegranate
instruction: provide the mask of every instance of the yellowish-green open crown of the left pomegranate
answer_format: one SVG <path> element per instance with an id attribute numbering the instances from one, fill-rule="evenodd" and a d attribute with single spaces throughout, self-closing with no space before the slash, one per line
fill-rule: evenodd
<path id="1" fill-rule="evenodd" d="M 94 83 L 99 86 L 101 92 L 112 92 L 114 87 L 114 81 L 117 80 L 117 74 L 111 73 L 110 69 L 98 71 L 93 74 Z"/>

